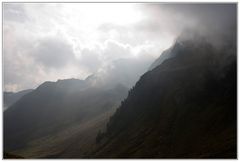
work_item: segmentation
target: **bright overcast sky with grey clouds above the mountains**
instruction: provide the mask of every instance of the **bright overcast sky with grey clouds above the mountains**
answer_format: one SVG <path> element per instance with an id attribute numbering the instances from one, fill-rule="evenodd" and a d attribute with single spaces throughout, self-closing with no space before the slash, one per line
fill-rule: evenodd
<path id="1" fill-rule="evenodd" d="M 233 27 L 233 4 L 4 3 L 4 90 L 91 74 L 136 79 L 184 30 Z"/>

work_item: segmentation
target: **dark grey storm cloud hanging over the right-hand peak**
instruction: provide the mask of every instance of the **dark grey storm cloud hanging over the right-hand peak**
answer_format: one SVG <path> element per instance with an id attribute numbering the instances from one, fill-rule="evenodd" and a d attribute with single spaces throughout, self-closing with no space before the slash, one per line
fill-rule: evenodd
<path id="1" fill-rule="evenodd" d="M 175 34 L 198 32 L 214 44 L 236 37 L 236 4 L 149 4 L 143 6 L 149 19 L 139 30 L 156 33 L 159 30 Z"/>

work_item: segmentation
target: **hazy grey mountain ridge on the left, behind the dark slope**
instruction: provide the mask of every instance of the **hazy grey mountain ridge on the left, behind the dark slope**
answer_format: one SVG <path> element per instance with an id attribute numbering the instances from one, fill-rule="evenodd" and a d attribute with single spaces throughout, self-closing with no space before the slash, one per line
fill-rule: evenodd
<path id="1" fill-rule="evenodd" d="M 98 128 L 126 95 L 122 85 L 103 89 L 87 80 L 45 82 L 4 112 L 4 151 L 50 157 L 74 147 L 79 134 L 85 143 L 90 137 L 95 141 Z"/>

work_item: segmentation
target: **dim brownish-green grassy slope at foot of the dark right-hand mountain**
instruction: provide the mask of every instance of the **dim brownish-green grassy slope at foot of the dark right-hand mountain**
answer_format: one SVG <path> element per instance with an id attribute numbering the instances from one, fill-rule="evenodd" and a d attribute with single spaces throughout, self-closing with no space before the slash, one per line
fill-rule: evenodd
<path id="1" fill-rule="evenodd" d="M 81 158 L 95 147 L 95 138 L 103 130 L 113 110 L 89 121 L 75 124 L 61 132 L 38 138 L 24 149 L 12 153 L 25 158 Z"/>

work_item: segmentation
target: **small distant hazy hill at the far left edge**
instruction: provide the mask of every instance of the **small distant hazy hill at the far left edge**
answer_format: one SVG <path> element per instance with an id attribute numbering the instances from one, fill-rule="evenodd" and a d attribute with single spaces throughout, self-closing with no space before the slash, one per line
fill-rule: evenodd
<path id="1" fill-rule="evenodd" d="M 17 100 L 19 100 L 22 96 L 30 93 L 32 89 L 27 89 L 19 92 L 4 92 L 3 93 L 3 101 L 4 101 L 4 110 L 6 110 L 9 106 L 13 105 Z"/>

